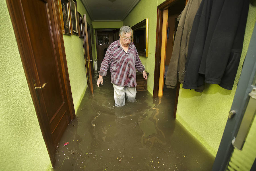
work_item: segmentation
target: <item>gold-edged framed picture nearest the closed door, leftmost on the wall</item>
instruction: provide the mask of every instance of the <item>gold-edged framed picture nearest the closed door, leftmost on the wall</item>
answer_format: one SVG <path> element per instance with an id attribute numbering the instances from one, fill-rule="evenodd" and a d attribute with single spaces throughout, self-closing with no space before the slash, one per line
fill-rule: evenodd
<path id="1" fill-rule="evenodd" d="M 70 2 L 69 0 L 60 0 L 60 4 L 61 4 L 61 13 L 62 13 L 62 19 L 61 21 L 63 21 L 62 23 L 62 28 L 64 30 L 62 30 L 63 34 L 69 34 L 72 35 L 72 26 L 71 26 L 71 17 L 70 17 Z"/>

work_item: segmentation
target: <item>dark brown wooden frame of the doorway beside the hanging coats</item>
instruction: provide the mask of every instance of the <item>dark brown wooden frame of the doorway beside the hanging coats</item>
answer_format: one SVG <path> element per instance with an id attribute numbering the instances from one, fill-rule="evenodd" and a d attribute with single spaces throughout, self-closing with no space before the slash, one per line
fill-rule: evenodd
<path id="1" fill-rule="evenodd" d="M 166 0 L 162 4 L 157 6 L 157 18 L 156 18 L 156 55 L 155 55 L 155 72 L 154 72 L 154 89 L 153 89 L 153 97 L 158 97 L 159 91 L 159 78 L 160 78 L 160 64 L 161 64 L 161 50 L 162 50 L 162 29 L 163 29 L 163 14 L 164 10 L 168 9 L 172 5 L 179 0 Z M 188 0 L 185 4 L 187 4 Z M 177 105 L 178 105 L 178 97 L 179 97 L 179 87 L 180 84 L 177 83 L 176 86 L 176 96 L 175 96 L 175 104 L 174 104 L 174 113 L 173 117 L 176 118 Z"/>

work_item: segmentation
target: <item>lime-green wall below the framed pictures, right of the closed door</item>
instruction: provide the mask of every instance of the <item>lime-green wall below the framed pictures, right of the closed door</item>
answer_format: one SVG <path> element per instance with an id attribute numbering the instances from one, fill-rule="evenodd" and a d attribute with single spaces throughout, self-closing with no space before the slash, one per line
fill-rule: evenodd
<path id="1" fill-rule="evenodd" d="M 84 5 L 80 0 L 77 0 L 77 10 L 82 16 L 86 14 L 86 21 L 89 25 L 91 25 L 92 21 L 90 19 L 90 16 L 88 15 Z M 65 45 L 67 66 L 69 71 L 71 92 L 76 112 L 87 88 L 83 40 L 82 38 L 79 38 L 79 36 L 77 35 L 70 36 L 66 34 L 63 34 L 63 40 Z M 94 60 L 94 44 L 92 44 L 92 56 Z"/>

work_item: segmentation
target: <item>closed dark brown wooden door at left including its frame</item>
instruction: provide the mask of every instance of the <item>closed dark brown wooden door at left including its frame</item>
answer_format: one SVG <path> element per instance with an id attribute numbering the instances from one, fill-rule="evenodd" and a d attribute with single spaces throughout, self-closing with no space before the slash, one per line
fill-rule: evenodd
<path id="1" fill-rule="evenodd" d="M 26 79 L 46 147 L 54 153 L 75 117 L 57 0 L 7 0 Z"/>

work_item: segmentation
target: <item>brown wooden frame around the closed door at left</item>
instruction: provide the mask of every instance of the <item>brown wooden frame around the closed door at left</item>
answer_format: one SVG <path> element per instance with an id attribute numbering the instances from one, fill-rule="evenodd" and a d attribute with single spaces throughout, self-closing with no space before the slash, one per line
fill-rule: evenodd
<path id="1" fill-rule="evenodd" d="M 38 118 L 38 122 L 40 125 L 40 129 L 42 131 L 42 136 L 44 138 L 46 148 L 48 150 L 49 158 L 51 160 L 52 166 L 55 164 L 55 146 L 54 143 L 52 142 L 51 138 L 51 133 L 49 131 L 49 127 L 47 126 L 46 119 L 42 117 L 44 113 L 41 110 L 40 103 L 38 101 L 34 83 L 32 82 L 32 70 L 30 69 L 31 62 L 26 60 L 26 56 L 30 54 L 26 54 L 25 51 L 23 51 L 23 48 L 26 48 L 23 46 L 24 42 L 29 43 L 28 37 L 26 36 L 26 27 L 21 24 L 25 22 L 24 16 L 22 15 L 15 15 L 14 11 L 18 11 L 19 13 L 22 13 L 22 11 L 19 11 L 19 9 L 16 9 L 16 3 L 20 2 L 14 2 L 13 0 L 6 0 L 7 7 L 9 10 L 9 14 L 11 17 L 11 22 L 13 25 L 17 45 L 18 45 L 18 50 L 22 62 L 22 66 L 24 68 L 24 73 L 26 76 L 26 80 L 28 82 L 28 88 L 30 91 L 30 95 L 32 97 L 32 101 L 36 110 L 36 115 Z M 65 91 L 67 93 L 67 103 L 69 107 L 69 113 L 71 119 L 75 118 L 75 108 L 73 104 L 73 98 L 72 98 L 72 93 L 71 93 L 71 86 L 70 86 L 70 81 L 69 81 L 69 74 L 68 74 L 68 68 L 67 68 L 67 60 L 66 60 L 66 53 L 65 53 L 65 48 L 64 48 L 64 41 L 63 41 L 63 35 L 62 35 L 62 29 L 61 29 L 61 23 L 60 23 L 60 12 L 59 12 L 59 5 L 58 5 L 58 0 L 51 0 L 51 5 L 53 7 L 53 18 L 54 18 L 54 23 L 55 23 L 55 29 L 52 30 L 56 35 L 57 35 L 57 42 L 58 42 L 58 47 L 59 47 L 59 53 L 60 53 L 60 58 L 61 58 L 61 68 L 62 68 L 62 73 L 64 77 L 64 84 L 65 84 Z"/>

